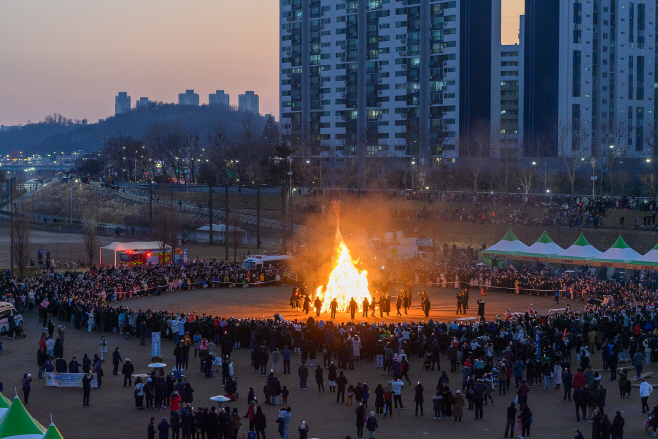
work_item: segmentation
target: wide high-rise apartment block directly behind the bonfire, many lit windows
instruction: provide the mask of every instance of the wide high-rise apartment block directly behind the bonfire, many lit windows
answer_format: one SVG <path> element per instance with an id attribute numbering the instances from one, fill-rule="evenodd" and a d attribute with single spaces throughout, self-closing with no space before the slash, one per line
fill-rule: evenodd
<path id="1" fill-rule="evenodd" d="M 460 132 L 489 120 L 491 3 L 281 0 L 282 133 L 303 154 L 357 165 L 359 188 L 380 159 L 418 160 L 422 184 L 459 154 Z"/>

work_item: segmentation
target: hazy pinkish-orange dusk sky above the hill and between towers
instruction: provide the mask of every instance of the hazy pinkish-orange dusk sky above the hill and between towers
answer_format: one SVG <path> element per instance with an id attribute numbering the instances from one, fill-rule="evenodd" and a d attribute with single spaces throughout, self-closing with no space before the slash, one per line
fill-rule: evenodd
<path id="1" fill-rule="evenodd" d="M 524 0 L 503 0 L 503 43 L 518 36 Z M 278 0 L 1 0 L 0 124 L 50 113 L 96 122 L 127 91 L 201 104 L 254 90 L 278 119 Z"/>

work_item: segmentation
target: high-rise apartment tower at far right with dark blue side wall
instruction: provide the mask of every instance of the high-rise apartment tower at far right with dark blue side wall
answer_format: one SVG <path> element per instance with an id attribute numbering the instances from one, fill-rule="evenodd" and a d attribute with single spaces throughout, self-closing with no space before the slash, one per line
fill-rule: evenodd
<path id="1" fill-rule="evenodd" d="M 526 1 L 526 152 L 650 154 L 655 1 Z"/>

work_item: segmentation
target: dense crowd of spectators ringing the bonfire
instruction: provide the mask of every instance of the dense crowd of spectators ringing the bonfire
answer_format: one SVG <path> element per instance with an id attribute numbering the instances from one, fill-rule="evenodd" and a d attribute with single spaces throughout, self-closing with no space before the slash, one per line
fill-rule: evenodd
<path id="1" fill-rule="evenodd" d="M 221 371 L 225 394 L 230 400 L 237 399 L 239 394 L 232 372 L 232 355 L 236 349 L 249 349 L 250 366 L 263 378 L 263 395 L 261 398 L 250 387 L 246 401 L 240 404 L 249 419 L 249 430 L 255 431 L 257 437 L 265 438 L 267 429 L 259 404 L 288 402 L 290 391 L 278 380 L 280 370 L 283 374 L 296 372 L 300 389 L 307 389 L 307 381 L 313 376 L 318 392 L 325 391 L 326 376 L 329 392 L 336 393 L 337 403 L 354 404 L 358 438 L 363 437 L 364 428 L 374 436 L 378 417 L 390 417 L 393 410 L 405 409 L 405 400 L 411 398 L 406 393 L 413 395 L 417 415 L 423 416 L 424 403 L 431 401 L 429 412 L 435 420 L 450 418 L 462 422 L 467 410 L 472 411 L 474 419 L 483 419 L 485 407 L 494 402 L 496 388 L 500 396 L 507 392 L 515 395 L 515 403 L 506 410 L 505 436 L 513 437 L 516 426 L 521 437 L 529 438 L 533 422 L 531 394 L 542 387 L 544 391 L 559 390 L 563 400 L 573 401 L 576 420 L 582 415 L 582 419 L 591 421 L 593 437 L 621 437 L 624 428 L 621 413 L 606 412 L 607 390 L 611 389 L 604 385 L 607 381 L 603 380 L 604 373 L 610 374 L 611 382 L 617 382 L 622 397 L 630 396 L 631 382 L 641 383 L 641 410 L 658 414 L 658 408 L 652 410 L 649 405 L 653 388 L 643 375 L 643 366 L 658 359 L 655 275 L 645 273 L 636 279 L 620 281 L 601 279 L 585 269 L 556 273 L 538 266 L 517 269 L 474 262 L 466 253 L 457 252 L 456 257 L 433 266 L 399 264 L 392 267 L 391 276 L 399 276 L 403 287 L 400 297 L 403 294 L 407 297 L 408 307 L 424 304 L 424 299 L 414 302 L 411 297 L 414 288 L 420 293 L 418 287 L 425 283 L 445 287 L 452 284 L 466 289 L 466 308 L 462 311 L 468 309 L 469 288 L 502 287 L 512 294 L 557 291 L 558 298 L 577 291 L 588 303 L 581 311 L 567 306 L 564 312 L 540 315 L 531 305 L 524 313 L 507 313 L 491 320 L 481 315 L 470 321 L 437 321 L 432 319 L 430 310 L 424 321 L 397 324 L 375 321 L 368 313 L 362 315 L 360 323 L 338 323 L 317 316 L 304 316 L 299 321 L 285 321 L 279 316 L 241 319 L 196 312 L 133 310 L 129 302 L 110 306 L 113 300 L 128 299 L 143 291 L 159 294 L 204 283 L 210 287 L 213 279 L 222 276 L 229 280 L 232 276 L 252 280 L 275 275 L 273 271 L 243 272 L 215 261 L 5 279 L 1 295 L 3 300 L 39 314 L 44 327 L 37 355 L 39 378 L 43 371 L 49 370 L 82 371 L 95 375 L 101 383 L 103 361 L 108 353 L 104 336 L 101 335 L 99 343 L 100 356 L 94 354 L 90 358 L 77 352 L 66 355 L 71 349 L 64 349 L 67 325 L 99 334 L 136 329 L 141 344 L 146 344 L 152 332 L 160 332 L 165 340 L 172 342 L 177 369 L 180 365 L 192 373 L 189 371 L 195 369 L 196 362 L 198 373 L 206 377 L 212 377 L 215 370 Z M 375 286 L 376 305 L 389 294 L 387 288 L 386 282 Z M 463 296 L 459 302 L 464 305 Z M 383 312 L 380 308 L 380 316 Z M 113 373 L 124 375 L 124 385 L 132 388 L 134 368 L 130 360 L 121 358 L 119 348 L 111 352 Z M 78 365 L 80 354 L 82 363 Z M 604 373 L 594 371 L 595 356 L 600 358 Z M 70 362 L 64 360 L 67 357 L 71 358 Z M 436 386 L 417 382 L 412 387 L 411 358 L 422 359 L 424 369 L 441 372 Z M 360 378 L 366 367 L 382 370 L 385 379 L 375 385 L 366 384 Z M 31 377 L 26 376 L 26 402 L 30 382 Z M 405 391 L 405 382 L 413 391 Z M 232 410 L 193 408 L 193 389 L 175 372 L 170 376 L 153 372 L 148 377 L 136 377 L 133 391 L 137 409 L 170 409 L 167 419 L 157 424 L 152 420 L 149 435 L 157 431 L 160 438 L 168 438 L 171 431 L 172 437 L 178 437 L 176 432 L 181 431 L 183 437 L 197 437 L 200 433 L 202 438 L 234 439 L 241 428 L 241 409 L 237 406 Z M 85 406 L 89 405 L 88 394 L 83 401 Z M 374 405 L 370 413 L 369 404 Z M 535 411 L 534 416 L 539 413 Z M 282 437 L 288 434 L 289 415 L 290 410 L 285 409 L 276 419 Z M 651 427 L 655 429 L 658 416 L 653 419 L 656 421 L 652 421 Z M 300 436 L 308 433 L 308 428 L 300 425 Z M 167 435 L 163 436 L 165 429 Z"/>

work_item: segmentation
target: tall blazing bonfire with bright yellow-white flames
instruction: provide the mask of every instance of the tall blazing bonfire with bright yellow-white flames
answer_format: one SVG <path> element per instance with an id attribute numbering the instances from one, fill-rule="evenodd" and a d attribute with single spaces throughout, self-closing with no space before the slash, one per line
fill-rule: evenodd
<path id="1" fill-rule="evenodd" d="M 354 299 L 361 309 L 363 299 L 371 300 L 368 291 L 368 272 L 356 268 L 359 260 L 352 259 L 340 234 L 340 203 L 333 202 L 333 206 L 336 212 L 336 236 L 331 261 L 332 270 L 327 285 L 320 285 L 316 294 L 322 300 L 322 312 L 330 312 L 330 305 L 334 299 L 338 303 L 339 312 L 349 309 L 351 299 Z"/>

